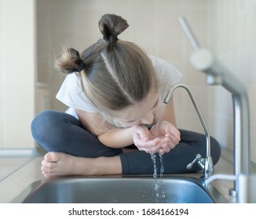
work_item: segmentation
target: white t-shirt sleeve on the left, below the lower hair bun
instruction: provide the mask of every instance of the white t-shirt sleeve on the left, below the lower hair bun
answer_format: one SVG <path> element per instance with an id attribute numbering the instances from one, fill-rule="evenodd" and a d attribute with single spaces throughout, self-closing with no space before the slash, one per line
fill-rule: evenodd
<path id="1" fill-rule="evenodd" d="M 97 113 L 97 109 L 93 103 L 87 99 L 83 92 L 81 77 L 78 74 L 68 74 L 61 84 L 56 98 L 63 102 L 64 105 L 76 110 L 83 110 L 90 113 Z"/>

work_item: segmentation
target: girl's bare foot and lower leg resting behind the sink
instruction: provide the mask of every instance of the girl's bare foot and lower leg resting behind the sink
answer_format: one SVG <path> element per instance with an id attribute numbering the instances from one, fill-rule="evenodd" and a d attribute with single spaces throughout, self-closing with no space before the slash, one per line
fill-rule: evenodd
<path id="1" fill-rule="evenodd" d="M 41 170 L 46 178 L 122 173 L 119 156 L 86 158 L 57 152 L 46 153 Z"/>

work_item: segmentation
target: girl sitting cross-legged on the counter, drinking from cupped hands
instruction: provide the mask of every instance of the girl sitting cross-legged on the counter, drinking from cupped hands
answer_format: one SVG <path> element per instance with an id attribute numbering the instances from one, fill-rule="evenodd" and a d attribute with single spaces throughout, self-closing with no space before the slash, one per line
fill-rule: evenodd
<path id="1" fill-rule="evenodd" d="M 165 174 L 199 171 L 186 166 L 197 153 L 206 155 L 206 137 L 177 129 L 172 101 L 155 130 L 163 99 L 181 74 L 120 40 L 127 27 L 122 17 L 106 14 L 99 21 L 103 38 L 81 54 L 68 48 L 57 57 L 57 69 L 68 74 L 57 99 L 69 110 L 39 113 L 31 124 L 35 141 L 48 152 L 42 160 L 46 178 L 153 174 L 153 153 L 163 156 Z M 211 138 L 214 163 L 220 151 Z"/>

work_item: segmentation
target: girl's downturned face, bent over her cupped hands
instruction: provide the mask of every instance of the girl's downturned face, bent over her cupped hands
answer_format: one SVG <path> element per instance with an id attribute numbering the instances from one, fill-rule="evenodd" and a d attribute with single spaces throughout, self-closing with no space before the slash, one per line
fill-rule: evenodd
<path id="1" fill-rule="evenodd" d="M 115 117 L 115 126 L 133 127 L 139 124 L 152 124 L 159 105 L 159 94 L 149 92 L 144 101 L 121 110 Z"/>

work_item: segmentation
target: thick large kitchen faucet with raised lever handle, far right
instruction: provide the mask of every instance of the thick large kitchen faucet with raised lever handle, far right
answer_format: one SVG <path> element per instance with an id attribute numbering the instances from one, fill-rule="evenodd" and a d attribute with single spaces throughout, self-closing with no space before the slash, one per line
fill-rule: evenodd
<path id="1" fill-rule="evenodd" d="M 233 114 L 234 114 L 234 130 L 233 130 L 233 174 L 213 176 L 213 181 L 217 177 L 221 179 L 228 179 L 234 181 L 234 188 L 229 190 L 229 194 L 233 197 L 238 196 L 240 202 L 245 201 L 246 197 L 249 197 L 250 191 L 247 183 L 251 185 L 251 181 L 256 181 L 256 177 L 250 174 L 250 120 L 249 120 L 249 102 L 247 98 L 247 88 L 238 80 L 224 65 L 214 58 L 212 52 L 206 48 L 200 48 L 196 39 L 194 38 L 192 31 L 188 27 L 184 17 L 180 17 L 179 22 L 183 31 L 190 41 L 194 52 L 190 62 L 196 70 L 202 71 L 207 74 L 207 84 L 210 85 L 222 85 L 232 94 L 233 102 Z M 245 178 L 247 180 L 245 180 Z M 255 186 L 254 186 L 255 187 Z M 255 190 L 255 188 L 254 188 Z M 247 191 L 246 194 L 244 191 Z M 254 195 L 253 199 L 256 195 Z M 243 198 L 242 198 L 243 197 Z M 248 198 L 249 199 L 249 198 Z"/>

